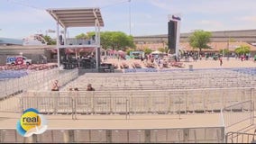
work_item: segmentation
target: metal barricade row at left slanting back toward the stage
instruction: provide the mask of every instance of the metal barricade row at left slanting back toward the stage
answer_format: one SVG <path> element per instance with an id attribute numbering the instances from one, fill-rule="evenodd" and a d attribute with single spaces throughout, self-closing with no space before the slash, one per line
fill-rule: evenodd
<path id="1" fill-rule="evenodd" d="M 78 69 L 59 71 L 59 68 L 32 72 L 27 76 L 0 81 L 0 99 L 11 94 L 27 90 L 50 89 L 51 82 L 59 80 L 59 85 L 66 85 L 78 77 Z"/>

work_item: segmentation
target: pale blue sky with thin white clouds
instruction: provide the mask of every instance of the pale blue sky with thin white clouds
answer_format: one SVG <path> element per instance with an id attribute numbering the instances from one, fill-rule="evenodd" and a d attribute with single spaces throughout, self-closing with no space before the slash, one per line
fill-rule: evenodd
<path id="1" fill-rule="evenodd" d="M 250 30 L 256 29 L 255 5 L 256 0 L 0 0 L 0 37 L 23 39 L 56 30 L 45 10 L 72 7 L 99 7 L 105 23 L 101 31 L 126 34 L 131 14 L 133 36 L 167 34 L 169 14 L 181 14 L 180 32 Z M 94 30 L 68 29 L 69 37 Z"/>

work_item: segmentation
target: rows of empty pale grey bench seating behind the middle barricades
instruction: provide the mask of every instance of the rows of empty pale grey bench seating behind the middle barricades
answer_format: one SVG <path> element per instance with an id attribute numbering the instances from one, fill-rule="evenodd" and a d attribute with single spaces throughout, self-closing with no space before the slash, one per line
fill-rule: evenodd
<path id="1" fill-rule="evenodd" d="M 255 71 L 255 70 L 254 70 Z M 220 75 L 220 73 L 222 75 Z M 255 73 L 255 72 L 254 72 Z M 152 90 L 152 89 L 199 89 L 224 87 L 254 87 L 255 74 L 224 70 L 173 71 L 171 73 L 144 74 L 86 74 L 67 86 L 85 90 L 88 83 L 97 91 Z"/>

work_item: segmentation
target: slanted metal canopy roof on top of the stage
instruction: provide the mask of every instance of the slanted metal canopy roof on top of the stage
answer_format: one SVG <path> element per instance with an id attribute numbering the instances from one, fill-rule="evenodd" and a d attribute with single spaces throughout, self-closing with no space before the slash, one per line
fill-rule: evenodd
<path id="1" fill-rule="evenodd" d="M 99 26 L 104 22 L 99 8 L 59 8 L 46 10 L 64 28 L 68 27 L 94 27 L 96 19 Z"/>

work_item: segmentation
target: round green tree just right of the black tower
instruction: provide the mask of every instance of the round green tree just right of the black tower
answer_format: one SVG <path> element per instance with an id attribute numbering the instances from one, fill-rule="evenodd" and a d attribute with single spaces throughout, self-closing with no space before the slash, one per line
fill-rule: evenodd
<path id="1" fill-rule="evenodd" d="M 202 49 L 211 49 L 207 43 L 210 42 L 212 33 L 210 31 L 197 30 L 189 36 L 189 44 L 193 49 L 199 49 L 201 53 Z"/>

